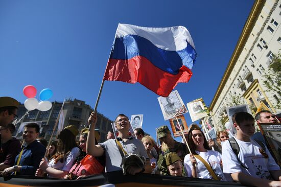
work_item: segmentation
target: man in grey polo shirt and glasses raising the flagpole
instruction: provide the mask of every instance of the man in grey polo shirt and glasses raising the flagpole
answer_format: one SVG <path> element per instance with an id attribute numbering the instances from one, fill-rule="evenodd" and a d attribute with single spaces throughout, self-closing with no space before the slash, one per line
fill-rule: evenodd
<path id="1" fill-rule="evenodd" d="M 143 143 L 129 134 L 130 122 L 126 115 L 119 114 L 115 119 L 115 124 L 119 132 L 118 138 L 108 139 L 106 142 L 99 145 L 95 145 L 95 126 L 97 123 L 97 113 L 91 113 L 88 119 L 88 123 L 90 124 L 90 128 L 87 137 L 86 152 L 87 154 L 96 157 L 105 154 L 106 172 L 122 170 L 122 168 L 120 167 L 122 158 L 124 157 L 124 155 L 127 155 L 127 153 L 138 154 L 139 156 L 145 157 L 146 163 L 144 168 L 139 168 L 132 165 L 127 168 L 127 170 L 125 171 L 126 173 L 134 175 L 140 172 L 152 172 L 150 160 Z"/>

